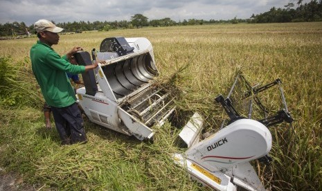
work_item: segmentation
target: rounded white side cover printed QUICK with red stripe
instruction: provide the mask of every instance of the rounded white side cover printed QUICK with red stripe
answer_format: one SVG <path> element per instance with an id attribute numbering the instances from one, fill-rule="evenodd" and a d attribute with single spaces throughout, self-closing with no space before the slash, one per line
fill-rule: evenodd
<path id="1" fill-rule="evenodd" d="M 271 133 L 262 123 L 237 120 L 186 151 L 188 159 L 207 170 L 222 170 L 265 156 L 271 150 Z"/>

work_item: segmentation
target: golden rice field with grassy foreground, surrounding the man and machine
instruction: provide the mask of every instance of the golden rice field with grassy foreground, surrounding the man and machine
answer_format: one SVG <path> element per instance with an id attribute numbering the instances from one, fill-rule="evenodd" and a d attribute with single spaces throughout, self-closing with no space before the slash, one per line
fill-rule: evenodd
<path id="1" fill-rule="evenodd" d="M 61 35 L 53 48 L 60 54 L 73 46 L 91 51 L 99 49 L 106 37 L 149 39 L 158 80 L 175 79 L 173 84 L 184 92 L 178 107 L 202 113 L 205 128 L 212 131 L 226 118 L 213 100 L 220 93 L 228 94 L 238 71 L 254 84 L 280 78 L 294 122 L 269 128 L 273 161 L 253 166 L 267 190 L 322 190 L 321 22 L 85 32 Z M 60 147 L 57 131 L 44 128 L 43 100 L 31 72 L 29 50 L 36 40 L 0 41 L 0 57 L 8 59 L 8 68 L 0 68 L 0 88 L 5 92 L 0 101 L 0 167 L 22 174 L 36 190 L 204 189 L 173 163 L 172 154 L 184 150 L 176 146 L 179 129 L 169 123 L 154 128 L 154 143 L 150 143 L 85 120 L 89 143 Z M 11 75 L 15 80 L 3 80 Z M 266 104 L 279 107 L 279 102 Z"/>

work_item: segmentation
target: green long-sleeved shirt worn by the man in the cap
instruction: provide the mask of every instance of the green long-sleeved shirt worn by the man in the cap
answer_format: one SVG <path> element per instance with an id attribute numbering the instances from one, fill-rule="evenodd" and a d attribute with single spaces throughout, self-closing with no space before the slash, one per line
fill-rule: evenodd
<path id="1" fill-rule="evenodd" d="M 47 104 L 67 107 L 76 100 L 66 73 L 83 73 L 85 66 L 73 65 L 66 55 L 60 57 L 51 46 L 37 41 L 30 49 L 30 60 L 35 78 Z"/>

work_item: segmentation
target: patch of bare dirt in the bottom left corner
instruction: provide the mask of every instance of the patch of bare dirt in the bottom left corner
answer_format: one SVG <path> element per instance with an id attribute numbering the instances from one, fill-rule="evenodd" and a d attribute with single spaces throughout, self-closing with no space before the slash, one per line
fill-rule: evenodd
<path id="1" fill-rule="evenodd" d="M 21 176 L 13 172 L 6 173 L 3 167 L 0 167 L 0 191 L 34 191 L 33 185 L 28 185 L 22 181 Z M 37 189 L 39 190 L 39 189 Z"/>

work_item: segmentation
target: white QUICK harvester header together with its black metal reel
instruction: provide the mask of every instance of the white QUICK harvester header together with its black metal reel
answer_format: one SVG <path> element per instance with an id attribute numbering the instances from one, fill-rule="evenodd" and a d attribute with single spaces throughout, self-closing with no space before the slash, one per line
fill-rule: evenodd
<path id="1" fill-rule="evenodd" d="M 283 109 L 271 115 L 259 93 L 275 85 L 280 91 Z M 236 87 L 239 93 L 236 93 Z M 293 119 L 279 79 L 256 87 L 251 87 L 239 73 L 229 96 L 215 98 L 229 116 L 229 121 L 224 122 L 226 126 L 192 145 L 184 154 L 175 154 L 175 162 L 186 167 L 191 179 L 213 190 L 265 190 L 249 162 L 256 159 L 265 163 L 271 161 L 268 153 L 272 138 L 267 127 Z M 240 91 L 242 89 L 244 91 Z M 233 106 L 234 102 L 237 107 Z M 246 111 L 246 115 L 241 111 Z"/>

